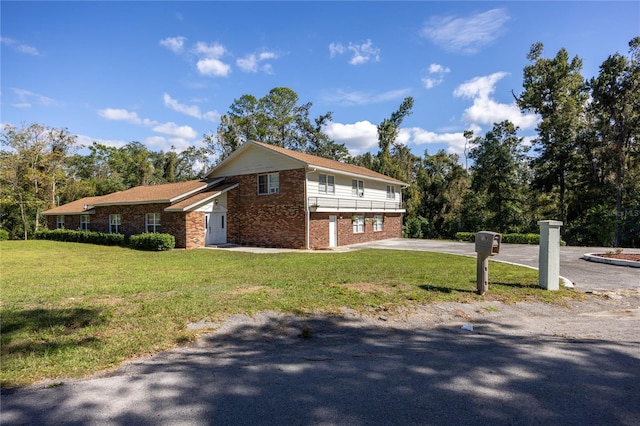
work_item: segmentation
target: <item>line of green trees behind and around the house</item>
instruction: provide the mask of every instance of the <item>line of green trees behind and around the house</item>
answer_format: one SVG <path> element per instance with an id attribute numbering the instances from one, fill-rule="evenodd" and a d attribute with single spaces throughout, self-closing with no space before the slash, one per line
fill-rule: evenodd
<path id="1" fill-rule="evenodd" d="M 350 156 L 324 127 L 331 112 L 310 118 L 286 87 L 262 98 L 243 95 L 221 117 L 204 147 L 151 151 L 140 142 L 123 147 L 81 147 L 66 129 L 41 124 L 5 126 L 0 151 L 0 226 L 12 238 L 28 238 L 42 226 L 41 212 L 75 199 L 137 185 L 203 177 L 247 140 L 361 165 L 409 184 L 405 234 L 453 238 L 456 232 L 491 229 L 537 232 L 537 221 L 564 223 L 574 245 L 636 247 L 640 244 L 640 37 L 629 54 L 610 55 L 596 77 L 585 79 L 582 60 L 560 49 L 543 57 L 531 46 L 521 93 L 523 112 L 539 117 L 536 136 L 525 141 L 509 121 L 485 134 L 464 132 L 465 164 L 456 154 L 418 156 L 397 141 L 412 113 L 407 97 L 378 125 L 378 151 Z M 83 153 L 80 153 L 84 148 Z M 467 167 L 467 160 L 471 165 Z"/>

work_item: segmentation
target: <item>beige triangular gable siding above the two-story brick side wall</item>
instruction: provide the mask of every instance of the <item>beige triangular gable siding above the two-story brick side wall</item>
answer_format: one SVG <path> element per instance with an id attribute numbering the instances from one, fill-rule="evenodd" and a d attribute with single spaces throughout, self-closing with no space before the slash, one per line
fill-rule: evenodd
<path id="1" fill-rule="evenodd" d="M 299 169 L 300 163 L 277 153 L 256 147 L 248 147 L 241 156 L 215 170 L 215 177 L 267 173 L 279 170 Z"/>

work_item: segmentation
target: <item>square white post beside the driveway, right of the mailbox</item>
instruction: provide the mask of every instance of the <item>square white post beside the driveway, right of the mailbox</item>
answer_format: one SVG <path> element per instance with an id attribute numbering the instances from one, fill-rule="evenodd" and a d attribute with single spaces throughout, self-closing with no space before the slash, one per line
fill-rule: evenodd
<path id="1" fill-rule="evenodd" d="M 560 288 L 560 227 L 558 220 L 541 220 L 538 285 L 546 290 Z"/>

